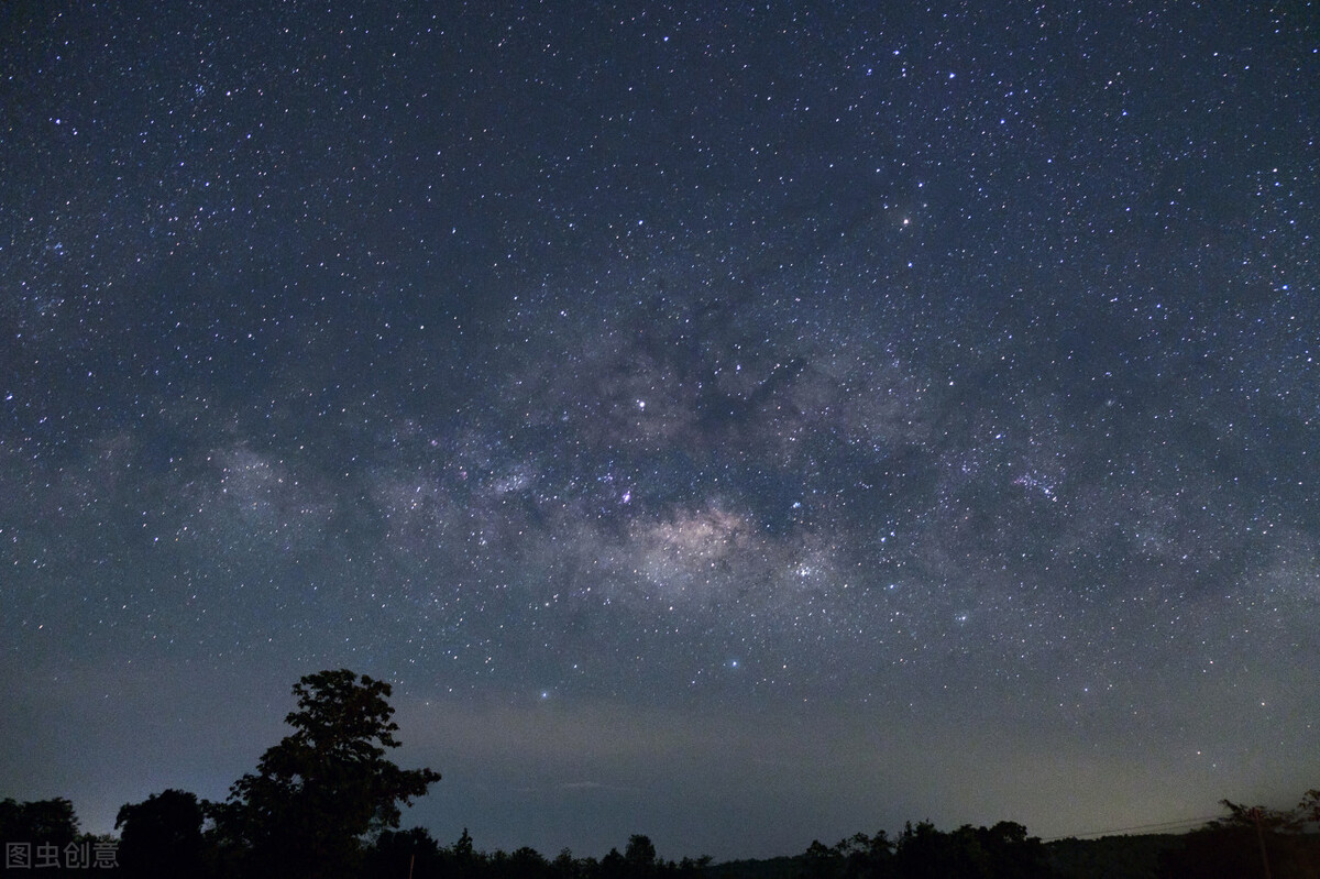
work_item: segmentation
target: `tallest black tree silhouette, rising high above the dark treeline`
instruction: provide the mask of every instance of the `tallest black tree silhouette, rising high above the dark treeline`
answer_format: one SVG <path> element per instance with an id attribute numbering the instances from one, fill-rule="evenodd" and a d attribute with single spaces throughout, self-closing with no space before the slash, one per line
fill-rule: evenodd
<path id="1" fill-rule="evenodd" d="M 352 875 L 362 838 L 397 828 L 400 802 L 424 796 L 440 773 L 385 759 L 399 747 L 389 684 L 326 670 L 302 677 L 293 694 L 293 734 L 234 783 L 215 809 L 218 831 L 242 854 L 244 875 Z"/>

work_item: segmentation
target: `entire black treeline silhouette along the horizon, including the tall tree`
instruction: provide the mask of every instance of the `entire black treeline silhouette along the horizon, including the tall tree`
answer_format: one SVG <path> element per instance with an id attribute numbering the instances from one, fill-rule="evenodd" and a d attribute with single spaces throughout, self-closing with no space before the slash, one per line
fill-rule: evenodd
<path id="1" fill-rule="evenodd" d="M 1222 801 L 1226 816 L 1184 835 L 1106 837 L 1043 843 L 1020 824 L 941 831 L 928 821 L 900 834 L 812 842 L 796 857 L 713 864 L 664 861 L 651 839 L 577 858 L 533 849 L 478 851 L 465 829 L 441 846 L 428 830 L 400 830 L 401 805 L 440 773 L 400 769 L 389 685 L 347 669 L 301 678 L 293 732 L 223 802 L 169 789 L 125 804 L 119 838 L 78 830 L 65 798 L 0 801 L 5 875 L 198 879 L 1320 879 L 1320 789 L 1291 810 Z M 733 818 L 731 818 L 733 820 Z"/>

